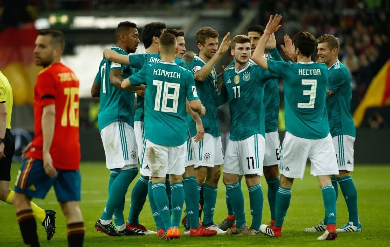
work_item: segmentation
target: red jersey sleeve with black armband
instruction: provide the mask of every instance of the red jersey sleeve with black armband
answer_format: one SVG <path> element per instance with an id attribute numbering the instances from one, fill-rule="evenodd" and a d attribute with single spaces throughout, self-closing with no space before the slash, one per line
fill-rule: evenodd
<path id="1" fill-rule="evenodd" d="M 41 107 L 55 104 L 56 87 L 55 80 L 49 73 L 38 75 L 36 80 L 36 93 Z"/>

